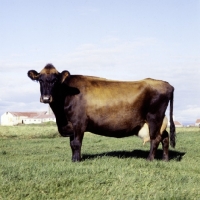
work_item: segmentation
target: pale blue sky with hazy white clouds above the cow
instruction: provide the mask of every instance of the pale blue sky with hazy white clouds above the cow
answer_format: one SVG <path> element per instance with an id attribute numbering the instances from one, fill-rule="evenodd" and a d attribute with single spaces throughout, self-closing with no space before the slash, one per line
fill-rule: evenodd
<path id="1" fill-rule="evenodd" d="M 175 119 L 200 118 L 200 0 L 0 3 L 0 115 L 46 110 L 27 71 L 52 63 L 71 74 L 168 81 Z"/>

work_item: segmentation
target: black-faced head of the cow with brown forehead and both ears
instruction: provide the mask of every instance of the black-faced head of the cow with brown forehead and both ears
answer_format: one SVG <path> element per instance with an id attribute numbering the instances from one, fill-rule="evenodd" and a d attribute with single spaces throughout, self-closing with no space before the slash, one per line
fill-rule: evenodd
<path id="1" fill-rule="evenodd" d="M 52 64 L 47 64 L 40 73 L 35 70 L 28 71 L 28 77 L 40 83 L 40 102 L 42 103 L 51 103 L 54 101 L 58 86 L 69 76 L 70 73 L 68 71 L 59 73 Z"/>

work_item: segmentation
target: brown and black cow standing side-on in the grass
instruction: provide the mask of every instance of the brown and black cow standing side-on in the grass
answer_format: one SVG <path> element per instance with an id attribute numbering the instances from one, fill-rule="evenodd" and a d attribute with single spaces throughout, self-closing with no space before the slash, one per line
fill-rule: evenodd
<path id="1" fill-rule="evenodd" d="M 61 73 L 47 64 L 39 73 L 28 71 L 28 77 L 40 83 L 40 102 L 53 110 L 58 132 L 70 138 L 72 161 L 81 161 L 84 132 L 108 136 L 138 135 L 148 124 L 150 152 L 153 160 L 162 143 L 163 160 L 168 161 L 169 134 L 160 129 L 170 103 L 170 145 L 174 148 L 174 88 L 168 82 L 147 78 L 140 81 L 115 81 L 104 78 Z"/>

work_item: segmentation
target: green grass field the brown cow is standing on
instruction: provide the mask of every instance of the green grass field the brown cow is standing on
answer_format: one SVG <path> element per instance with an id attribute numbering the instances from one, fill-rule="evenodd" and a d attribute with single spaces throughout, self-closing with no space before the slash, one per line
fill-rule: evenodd
<path id="1" fill-rule="evenodd" d="M 0 199 L 200 199 L 200 129 L 178 128 L 170 162 L 137 137 L 86 133 L 80 163 L 54 124 L 0 126 Z"/>

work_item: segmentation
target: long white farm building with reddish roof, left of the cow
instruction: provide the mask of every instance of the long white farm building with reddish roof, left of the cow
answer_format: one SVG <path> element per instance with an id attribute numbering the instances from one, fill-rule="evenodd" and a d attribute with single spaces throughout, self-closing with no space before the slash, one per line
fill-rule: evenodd
<path id="1" fill-rule="evenodd" d="M 1 125 L 13 126 L 17 124 L 40 124 L 42 122 L 56 121 L 53 114 L 43 112 L 5 112 L 1 116 Z"/>

